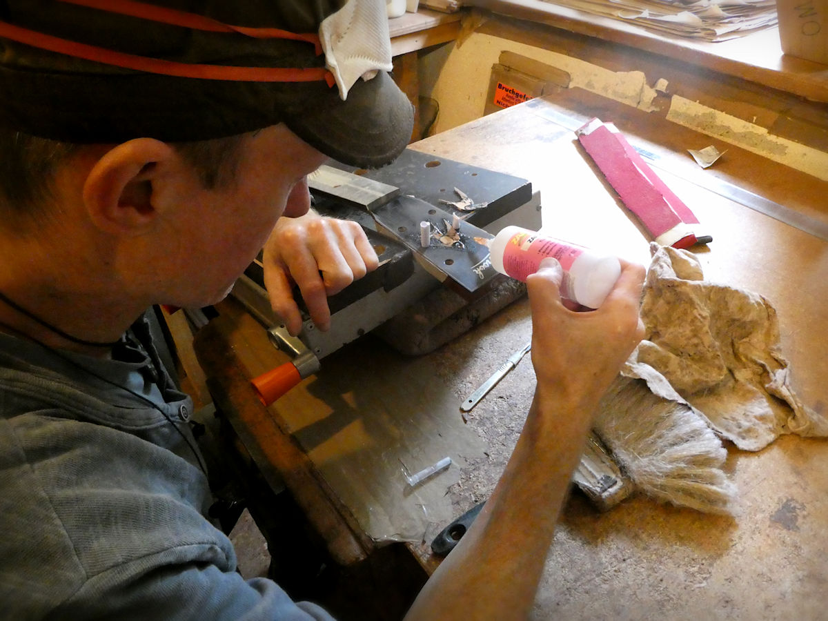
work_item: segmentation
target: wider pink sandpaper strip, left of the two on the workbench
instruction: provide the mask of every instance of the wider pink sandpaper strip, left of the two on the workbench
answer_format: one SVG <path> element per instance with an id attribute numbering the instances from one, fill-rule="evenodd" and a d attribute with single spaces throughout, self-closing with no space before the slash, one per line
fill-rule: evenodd
<path id="1" fill-rule="evenodd" d="M 624 147 L 626 141 L 619 140 L 619 134 L 610 132 L 604 123 L 596 121 L 593 119 L 578 130 L 578 140 L 619 193 L 623 204 L 638 216 L 654 238 L 682 224 L 684 220 L 672 208 L 662 190 L 653 184 L 652 177 L 657 179 L 657 176 L 652 169 L 631 146 L 632 154 L 627 151 Z M 678 202 L 681 203 L 681 200 Z"/>

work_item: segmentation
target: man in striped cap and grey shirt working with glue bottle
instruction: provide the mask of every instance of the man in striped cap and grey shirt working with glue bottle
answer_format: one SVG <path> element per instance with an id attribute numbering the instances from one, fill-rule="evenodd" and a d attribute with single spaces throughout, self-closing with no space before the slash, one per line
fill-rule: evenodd
<path id="1" fill-rule="evenodd" d="M 376 267 L 357 227 L 308 212 L 306 175 L 327 157 L 380 166 L 411 132 L 384 5 L 338 9 L 0 2 L 7 618 L 329 618 L 235 572 L 205 517 L 192 403 L 144 311 L 220 300 L 264 247 L 274 309 L 299 330 L 296 282 L 325 328 L 325 296 Z M 317 31 L 325 55 L 296 37 Z M 526 427 L 411 619 L 527 614 L 590 412 L 640 338 L 642 279 L 625 265 L 600 310 L 575 313 L 555 262 L 530 278 Z"/>

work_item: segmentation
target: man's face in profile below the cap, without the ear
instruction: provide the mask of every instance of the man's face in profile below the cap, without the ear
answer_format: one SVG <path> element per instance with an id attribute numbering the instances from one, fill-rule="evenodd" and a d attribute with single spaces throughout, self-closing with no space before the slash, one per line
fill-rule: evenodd
<path id="1" fill-rule="evenodd" d="M 192 207 L 178 234 L 181 300 L 205 306 L 227 295 L 282 215 L 295 218 L 310 208 L 306 176 L 328 158 L 279 124 L 243 144 L 234 184 L 220 190 L 194 189 Z"/>

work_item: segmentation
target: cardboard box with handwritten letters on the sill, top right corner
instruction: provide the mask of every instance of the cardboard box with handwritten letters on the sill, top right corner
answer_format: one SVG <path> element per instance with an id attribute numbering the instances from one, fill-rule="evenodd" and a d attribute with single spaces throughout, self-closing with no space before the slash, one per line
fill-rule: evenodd
<path id="1" fill-rule="evenodd" d="M 782 51 L 828 65 L 828 0 L 777 0 Z"/>

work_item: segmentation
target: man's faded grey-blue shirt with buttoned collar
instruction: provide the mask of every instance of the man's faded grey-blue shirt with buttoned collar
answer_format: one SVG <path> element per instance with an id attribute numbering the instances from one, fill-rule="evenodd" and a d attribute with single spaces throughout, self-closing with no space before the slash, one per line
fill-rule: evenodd
<path id="1" fill-rule="evenodd" d="M 111 360 L 0 333 L 0 618 L 330 619 L 238 574 L 191 411 L 146 317 Z"/>

